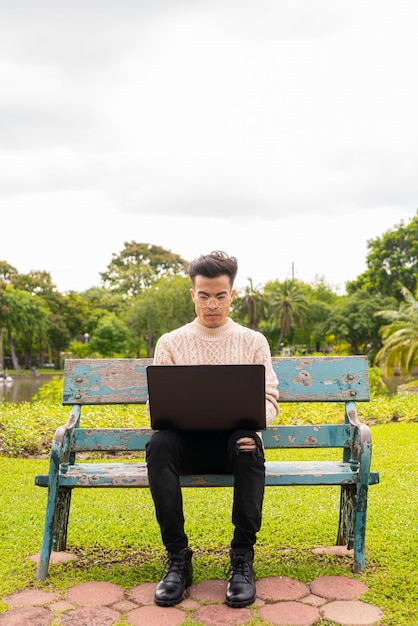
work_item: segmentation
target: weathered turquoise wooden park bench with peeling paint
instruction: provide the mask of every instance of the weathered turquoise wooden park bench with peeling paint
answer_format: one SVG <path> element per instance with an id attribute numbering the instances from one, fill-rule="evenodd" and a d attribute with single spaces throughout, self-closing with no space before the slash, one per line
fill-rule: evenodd
<path id="1" fill-rule="evenodd" d="M 337 545 L 354 548 L 354 571 L 361 572 L 365 568 L 368 487 L 379 482 L 379 474 L 370 471 L 370 429 L 360 423 L 356 410 L 356 402 L 370 400 L 367 358 L 284 357 L 272 362 L 279 379 L 281 405 L 335 402 L 342 406 L 338 405 L 338 424 L 268 427 L 263 433 L 265 448 L 341 448 L 342 459 L 267 461 L 266 486 L 341 486 Z M 55 432 L 49 474 L 35 478 L 36 485 L 48 488 L 38 580 L 48 574 L 51 551 L 66 549 L 73 489 L 148 487 L 145 462 L 85 463 L 76 462 L 76 457 L 91 451 L 145 450 L 151 429 L 81 428 L 80 417 L 83 405 L 145 403 L 146 367 L 150 363 L 151 359 L 66 360 L 63 404 L 71 406 L 71 415 Z M 181 482 L 183 487 L 226 487 L 232 486 L 233 476 L 190 475 L 182 476 Z"/>

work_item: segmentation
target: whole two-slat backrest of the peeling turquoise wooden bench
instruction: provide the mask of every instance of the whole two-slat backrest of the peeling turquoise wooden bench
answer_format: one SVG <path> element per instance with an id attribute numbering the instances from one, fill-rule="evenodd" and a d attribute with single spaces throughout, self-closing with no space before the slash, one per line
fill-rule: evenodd
<path id="1" fill-rule="evenodd" d="M 367 357 L 273 358 L 284 402 L 345 403 L 345 423 L 271 426 L 263 433 L 266 448 L 350 448 L 348 413 L 355 401 L 370 400 Z M 79 428 L 82 405 L 143 404 L 147 400 L 146 367 L 152 359 L 67 359 L 63 404 L 73 405 L 76 426 L 70 450 L 141 451 L 150 428 Z M 58 435 L 59 437 L 60 435 Z M 348 457 L 347 457 L 348 458 Z"/>

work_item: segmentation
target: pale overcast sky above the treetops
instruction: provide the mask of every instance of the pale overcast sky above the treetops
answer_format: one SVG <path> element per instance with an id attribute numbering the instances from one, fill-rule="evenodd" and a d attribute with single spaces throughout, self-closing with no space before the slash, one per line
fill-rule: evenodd
<path id="1" fill-rule="evenodd" d="M 62 292 L 124 242 L 322 277 L 418 208 L 416 0 L 0 0 L 0 260 Z"/>

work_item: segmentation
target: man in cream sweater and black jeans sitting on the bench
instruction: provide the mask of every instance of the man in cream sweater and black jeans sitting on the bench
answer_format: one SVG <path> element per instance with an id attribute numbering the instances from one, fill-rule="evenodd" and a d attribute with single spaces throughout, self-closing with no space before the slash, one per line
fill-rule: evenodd
<path id="1" fill-rule="evenodd" d="M 154 363 L 262 363 L 266 371 L 266 418 L 271 423 L 278 413 L 279 394 L 267 340 L 228 317 L 237 270 L 237 260 L 220 251 L 202 255 L 190 264 L 196 319 L 160 337 Z M 234 534 L 226 603 L 239 608 L 254 602 L 254 544 L 261 526 L 265 482 L 261 435 L 255 431 L 156 431 L 147 445 L 147 463 L 156 517 L 168 552 L 167 572 L 155 591 L 156 604 L 178 604 L 185 588 L 192 584 L 192 551 L 184 532 L 179 476 L 210 472 L 234 475 Z"/>

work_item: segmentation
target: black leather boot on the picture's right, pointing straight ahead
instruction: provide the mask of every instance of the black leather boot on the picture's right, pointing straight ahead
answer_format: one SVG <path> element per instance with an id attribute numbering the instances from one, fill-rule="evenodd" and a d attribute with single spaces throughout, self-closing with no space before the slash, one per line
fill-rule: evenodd
<path id="1" fill-rule="evenodd" d="M 254 555 L 251 550 L 241 554 L 230 552 L 231 569 L 226 588 L 226 604 L 236 609 L 252 604 L 255 600 Z"/>

